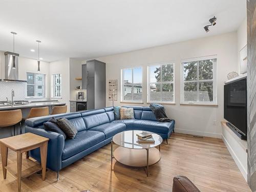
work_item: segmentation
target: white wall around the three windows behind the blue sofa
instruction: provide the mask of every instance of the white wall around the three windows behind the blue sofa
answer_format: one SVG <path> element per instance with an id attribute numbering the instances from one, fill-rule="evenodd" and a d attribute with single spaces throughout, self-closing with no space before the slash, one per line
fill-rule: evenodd
<path id="1" fill-rule="evenodd" d="M 147 66 L 156 62 L 174 61 L 176 105 L 165 105 L 165 108 L 167 116 L 176 120 L 175 130 L 180 133 L 221 138 L 224 102 L 223 84 L 227 80 L 226 76 L 229 72 L 238 71 L 237 47 L 237 32 L 231 32 L 96 59 L 106 62 L 106 95 L 108 95 L 108 80 L 118 79 L 118 101 L 115 102 L 116 105 L 124 105 L 120 103 L 120 70 L 133 66 L 142 66 L 144 106 L 147 106 Z M 181 59 L 208 55 L 217 55 L 218 107 L 181 106 Z M 106 98 L 106 105 L 112 105 L 108 98 Z M 214 125 L 214 121 L 217 122 L 217 125 Z"/>

